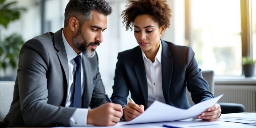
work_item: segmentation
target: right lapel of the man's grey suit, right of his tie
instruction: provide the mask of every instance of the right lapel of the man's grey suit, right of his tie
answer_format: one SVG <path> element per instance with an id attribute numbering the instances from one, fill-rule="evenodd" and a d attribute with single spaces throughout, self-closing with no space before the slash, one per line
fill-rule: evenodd
<path id="1" fill-rule="evenodd" d="M 85 57 L 85 55 L 83 54 L 82 56 L 82 65 L 84 68 L 84 75 L 85 75 L 85 79 L 84 79 L 84 94 L 82 96 L 82 108 L 88 108 L 91 98 L 92 98 L 92 92 L 93 92 L 93 88 L 92 88 L 92 72 L 91 72 L 91 67 L 89 64 L 88 59 Z"/>

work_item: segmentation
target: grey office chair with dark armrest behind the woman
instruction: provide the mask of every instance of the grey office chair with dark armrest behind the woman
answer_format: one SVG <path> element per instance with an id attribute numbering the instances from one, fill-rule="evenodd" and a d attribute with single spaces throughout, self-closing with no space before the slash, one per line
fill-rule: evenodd
<path id="1" fill-rule="evenodd" d="M 202 71 L 203 78 L 208 82 L 209 90 L 214 95 L 214 71 Z M 225 95 L 225 94 L 224 94 Z M 191 106 L 195 105 L 192 101 L 191 93 L 187 90 L 188 101 Z M 245 112 L 245 107 L 237 103 L 218 103 L 221 107 L 221 113 L 238 113 Z"/>

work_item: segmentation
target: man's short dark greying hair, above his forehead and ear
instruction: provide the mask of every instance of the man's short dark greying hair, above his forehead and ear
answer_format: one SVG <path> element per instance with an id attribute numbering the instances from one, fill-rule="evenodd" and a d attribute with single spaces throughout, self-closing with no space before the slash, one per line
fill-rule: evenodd
<path id="1" fill-rule="evenodd" d="M 70 0 L 65 9 L 64 26 L 68 25 L 69 19 L 75 16 L 80 25 L 91 19 L 91 11 L 96 10 L 104 15 L 110 15 L 112 8 L 105 0 Z"/>

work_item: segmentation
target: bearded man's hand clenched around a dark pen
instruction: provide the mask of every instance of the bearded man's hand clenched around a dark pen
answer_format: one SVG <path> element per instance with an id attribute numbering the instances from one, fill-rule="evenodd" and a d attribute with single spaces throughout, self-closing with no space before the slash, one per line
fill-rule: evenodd
<path id="1" fill-rule="evenodd" d="M 106 103 L 97 108 L 88 110 L 87 124 L 95 126 L 114 126 L 123 116 L 122 106 Z"/>

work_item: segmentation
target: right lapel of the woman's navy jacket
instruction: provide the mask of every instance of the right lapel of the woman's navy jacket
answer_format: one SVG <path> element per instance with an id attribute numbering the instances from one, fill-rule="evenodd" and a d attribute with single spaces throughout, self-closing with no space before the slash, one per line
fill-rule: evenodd
<path id="1" fill-rule="evenodd" d="M 163 94 L 164 99 L 167 104 L 169 104 L 169 90 L 171 85 L 172 79 L 172 72 L 173 72 L 173 59 L 170 58 L 172 55 L 167 43 L 163 40 L 162 42 L 162 87 L 163 87 Z"/>

